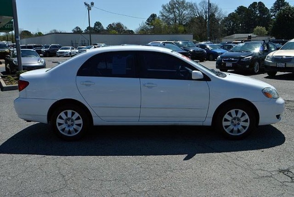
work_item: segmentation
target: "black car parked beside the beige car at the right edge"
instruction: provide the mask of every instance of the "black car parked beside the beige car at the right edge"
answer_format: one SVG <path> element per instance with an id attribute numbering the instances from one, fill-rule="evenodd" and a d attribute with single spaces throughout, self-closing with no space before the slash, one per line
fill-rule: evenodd
<path id="1" fill-rule="evenodd" d="M 264 69 L 265 58 L 277 47 L 270 42 L 245 42 L 236 45 L 230 51 L 220 55 L 216 68 L 222 72 L 228 70 L 249 70 L 257 74 Z"/>

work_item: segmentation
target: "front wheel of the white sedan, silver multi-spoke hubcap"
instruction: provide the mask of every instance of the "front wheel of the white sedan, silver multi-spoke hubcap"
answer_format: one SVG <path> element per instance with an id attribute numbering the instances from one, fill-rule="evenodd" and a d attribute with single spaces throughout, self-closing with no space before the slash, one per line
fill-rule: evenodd
<path id="1" fill-rule="evenodd" d="M 255 129 L 256 117 L 249 106 L 239 102 L 228 103 L 217 114 L 215 126 L 225 138 L 241 140 Z"/>

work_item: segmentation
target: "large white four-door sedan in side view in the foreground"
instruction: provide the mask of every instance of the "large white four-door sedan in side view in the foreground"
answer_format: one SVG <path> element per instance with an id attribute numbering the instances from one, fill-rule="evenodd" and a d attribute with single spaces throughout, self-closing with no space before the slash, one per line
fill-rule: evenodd
<path id="1" fill-rule="evenodd" d="M 210 70 L 171 49 L 110 46 L 21 74 L 14 107 L 64 140 L 80 139 L 91 125 L 207 125 L 236 140 L 278 123 L 285 101 L 268 83 Z"/>

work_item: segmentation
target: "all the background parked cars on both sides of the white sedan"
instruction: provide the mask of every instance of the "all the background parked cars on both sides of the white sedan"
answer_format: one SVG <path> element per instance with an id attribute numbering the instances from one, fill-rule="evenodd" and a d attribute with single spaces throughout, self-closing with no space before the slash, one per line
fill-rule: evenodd
<path id="1" fill-rule="evenodd" d="M 265 40 L 245 40 L 238 43 L 213 44 L 206 42 L 195 44 L 188 40 L 178 40 L 153 41 L 145 45 L 169 48 L 199 62 L 216 60 L 216 68 L 221 72 L 227 72 L 228 70 L 247 70 L 253 74 L 258 74 L 260 71 L 266 71 L 270 76 L 274 76 L 277 72 L 294 73 L 294 40 L 286 42 L 285 45 Z M 29 59 L 29 62 L 22 61 L 23 69 L 34 70 L 45 68 L 46 63 L 42 56 L 72 57 L 86 50 L 104 46 L 107 45 L 96 43 L 90 46 L 80 46 L 75 49 L 71 46 L 61 47 L 58 44 L 44 46 L 22 45 L 22 51 L 24 49 L 30 49 L 39 54 L 38 56 L 35 55 L 34 62 L 32 62 L 32 58 Z M 27 51 L 24 51 L 24 55 L 27 53 Z M 33 52 L 30 52 L 30 57 L 32 57 L 32 54 Z M 24 55 L 22 54 L 22 57 Z M 5 58 L 5 71 L 11 74 L 17 68 L 16 50 L 11 50 L 11 53 Z"/>

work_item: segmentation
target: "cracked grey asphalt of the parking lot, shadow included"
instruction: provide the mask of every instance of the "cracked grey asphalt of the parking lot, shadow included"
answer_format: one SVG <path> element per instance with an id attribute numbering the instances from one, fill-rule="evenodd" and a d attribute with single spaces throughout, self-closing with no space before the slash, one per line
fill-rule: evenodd
<path id="1" fill-rule="evenodd" d="M 1 91 L 0 196 L 293 197 L 294 74 L 245 75 L 275 86 L 286 108 L 280 123 L 242 141 L 209 127 L 101 126 L 64 142 L 17 117 L 18 90 Z"/>

